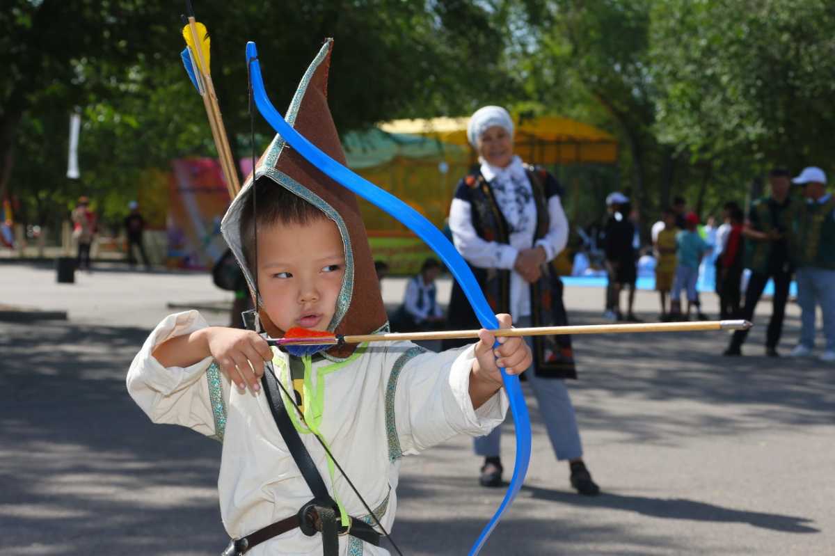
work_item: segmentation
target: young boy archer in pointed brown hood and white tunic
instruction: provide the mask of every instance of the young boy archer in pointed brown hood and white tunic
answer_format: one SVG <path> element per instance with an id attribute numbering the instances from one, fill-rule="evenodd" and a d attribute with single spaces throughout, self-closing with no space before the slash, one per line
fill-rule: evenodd
<path id="1" fill-rule="evenodd" d="M 286 119 L 344 164 L 326 103 L 331 44 L 308 68 Z M 281 138 L 261 157 L 255 184 L 252 179 L 245 184 L 221 228 L 270 336 L 296 326 L 337 334 L 385 330 L 357 200 L 285 149 Z M 512 322 L 509 315 L 498 320 L 503 327 Z M 338 505 L 341 533 L 347 533 L 338 538 L 338 553 L 387 554 L 358 533 L 359 522 L 374 521 L 346 476 L 389 530 L 400 457 L 458 433 L 483 435 L 504 420 L 508 401 L 498 366 L 519 374 L 531 356 L 520 338 L 508 338 L 496 350 L 493 341 L 483 330 L 474 346 L 441 353 L 392 342 L 291 356 L 254 331 L 208 326 L 197 311 L 185 311 L 154 329 L 127 382 L 152 421 L 180 424 L 223 442 L 221 517 L 230 537 L 249 543 L 232 553 L 321 553 L 329 542 L 321 533 L 325 518 L 313 520 L 320 532 L 303 531 L 298 520 L 293 526 L 293 517 L 311 500 L 311 488 L 259 384 L 271 361 L 276 379 L 287 392 L 295 390 L 303 419 L 286 397 L 281 400 Z M 348 516 L 354 527 L 346 529 Z"/>

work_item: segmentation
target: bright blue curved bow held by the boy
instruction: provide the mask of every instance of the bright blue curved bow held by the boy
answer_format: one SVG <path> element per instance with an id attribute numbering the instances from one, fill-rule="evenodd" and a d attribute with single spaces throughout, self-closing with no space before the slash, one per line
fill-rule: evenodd
<path id="1" fill-rule="evenodd" d="M 377 205 L 378 208 L 392 215 L 392 217 L 399 220 L 403 225 L 406 225 L 407 228 L 425 241 L 438 254 L 441 260 L 443 260 L 443 263 L 452 272 L 455 280 L 458 281 L 470 305 L 473 306 L 473 311 L 478 316 L 478 321 L 481 323 L 481 326 L 487 329 L 498 328 L 496 316 L 493 314 L 487 299 L 484 297 L 481 287 L 478 286 L 478 281 L 476 281 L 473 271 L 470 270 L 467 262 L 441 231 L 402 200 L 397 199 L 397 197 L 388 193 L 386 190 L 380 189 L 367 179 L 353 173 L 336 160 L 331 159 L 330 156 L 322 152 L 316 145 L 296 132 L 273 107 L 266 94 L 264 81 L 261 77 L 261 65 L 258 62 L 258 52 L 256 44 L 253 42 L 246 43 L 246 61 L 250 67 L 251 87 L 256 107 L 264 119 L 275 129 L 276 133 L 281 135 L 281 138 L 287 144 L 290 144 L 293 149 L 296 149 L 308 162 L 320 169 L 323 174 L 326 174 L 337 183 L 342 184 L 343 187 L 351 190 L 355 195 L 359 195 L 372 204 Z M 254 173 L 255 169 L 253 169 Z M 498 346 L 498 341 L 495 345 Z M 510 485 L 502 503 L 493 514 L 493 517 L 490 518 L 487 525 L 484 526 L 478 539 L 473 544 L 473 548 L 470 548 L 469 556 L 478 554 L 484 543 L 487 542 L 490 533 L 493 532 L 493 528 L 496 527 L 505 511 L 514 502 L 516 495 L 519 493 L 519 489 L 524 483 L 530 462 L 530 418 L 528 415 L 528 407 L 524 402 L 522 387 L 519 384 L 519 377 L 509 375 L 505 372 L 504 368 L 500 368 L 499 370 L 502 373 L 504 388 L 509 397 L 510 409 L 513 413 L 516 428 L 514 474 L 510 479 Z"/>

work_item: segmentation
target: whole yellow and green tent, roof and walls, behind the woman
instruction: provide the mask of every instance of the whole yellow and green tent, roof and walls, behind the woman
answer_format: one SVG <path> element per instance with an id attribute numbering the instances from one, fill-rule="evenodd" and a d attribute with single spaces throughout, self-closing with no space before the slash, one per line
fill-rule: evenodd
<path id="1" fill-rule="evenodd" d="M 617 140 L 601 129 L 550 116 L 517 122 L 514 151 L 529 164 L 617 162 Z M 467 123 L 467 118 L 398 119 L 345 134 L 342 145 L 348 166 L 443 229 L 455 184 L 477 159 L 467 140 Z M 433 255 L 377 207 L 364 201 L 360 205 L 373 254 L 386 260 L 392 273 L 414 273 Z"/>

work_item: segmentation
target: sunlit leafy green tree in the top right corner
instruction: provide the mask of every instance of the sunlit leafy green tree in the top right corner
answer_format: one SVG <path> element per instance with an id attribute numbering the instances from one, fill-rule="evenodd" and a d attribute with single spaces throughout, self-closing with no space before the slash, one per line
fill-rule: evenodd
<path id="1" fill-rule="evenodd" d="M 737 188 L 775 164 L 832 169 L 833 25 L 825 0 L 656 3 L 658 138 Z"/>

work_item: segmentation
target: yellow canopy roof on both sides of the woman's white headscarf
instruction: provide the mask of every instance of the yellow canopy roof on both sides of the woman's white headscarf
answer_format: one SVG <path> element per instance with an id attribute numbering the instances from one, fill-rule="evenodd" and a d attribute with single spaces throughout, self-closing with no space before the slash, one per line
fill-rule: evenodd
<path id="1" fill-rule="evenodd" d="M 468 121 L 468 118 L 396 119 L 379 128 L 391 134 L 423 135 L 468 147 Z M 615 164 L 618 142 L 612 134 L 594 126 L 568 118 L 542 116 L 518 119 L 514 151 L 530 164 Z"/>

